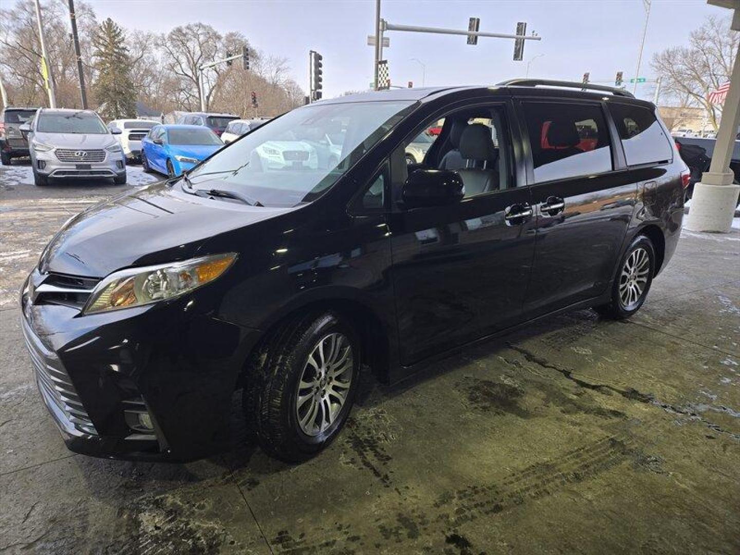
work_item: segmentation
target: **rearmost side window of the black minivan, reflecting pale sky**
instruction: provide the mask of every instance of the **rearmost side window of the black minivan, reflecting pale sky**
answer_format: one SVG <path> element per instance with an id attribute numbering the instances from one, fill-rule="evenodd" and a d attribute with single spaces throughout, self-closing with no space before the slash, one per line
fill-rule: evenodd
<path id="1" fill-rule="evenodd" d="M 673 147 L 652 110 L 628 104 L 609 104 L 611 117 L 625 147 L 629 166 L 670 161 Z"/>

